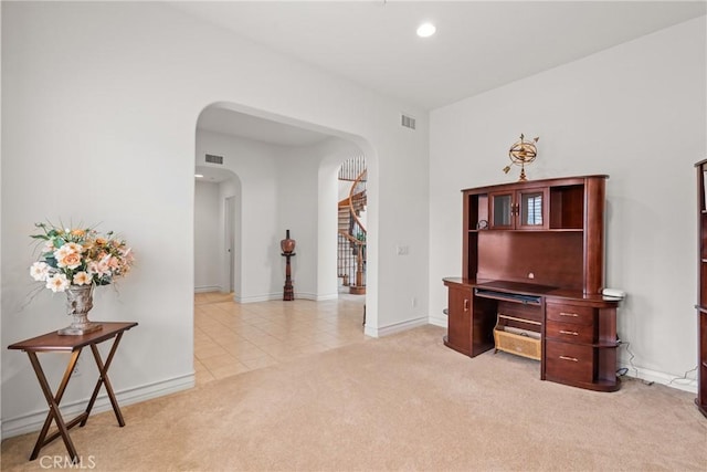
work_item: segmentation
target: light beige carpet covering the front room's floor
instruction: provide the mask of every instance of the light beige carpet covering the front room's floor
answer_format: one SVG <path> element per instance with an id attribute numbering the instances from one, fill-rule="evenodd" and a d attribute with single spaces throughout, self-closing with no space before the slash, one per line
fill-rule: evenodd
<path id="1" fill-rule="evenodd" d="M 125 428 L 92 417 L 72 438 L 105 471 L 707 470 L 693 395 L 541 381 L 537 361 L 471 359 L 443 334 L 425 326 L 212 381 L 123 407 Z M 3 441 L 2 470 L 45 470 L 27 460 L 35 438 Z M 56 441 L 42 455 L 64 452 Z"/>

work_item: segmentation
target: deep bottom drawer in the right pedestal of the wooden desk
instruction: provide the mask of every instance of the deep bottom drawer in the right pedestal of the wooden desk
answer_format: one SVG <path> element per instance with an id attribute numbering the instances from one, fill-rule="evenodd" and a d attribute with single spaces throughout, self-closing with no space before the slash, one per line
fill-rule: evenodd
<path id="1" fill-rule="evenodd" d="M 546 342 L 545 371 L 548 377 L 592 382 L 594 380 L 594 349 L 569 343 Z"/>

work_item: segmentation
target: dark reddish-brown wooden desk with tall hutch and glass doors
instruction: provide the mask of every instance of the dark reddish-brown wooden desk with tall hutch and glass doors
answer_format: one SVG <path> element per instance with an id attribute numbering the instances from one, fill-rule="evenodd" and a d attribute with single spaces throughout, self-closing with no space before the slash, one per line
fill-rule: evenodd
<path id="1" fill-rule="evenodd" d="M 462 190 L 462 277 L 444 279 L 449 347 L 474 357 L 495 346 L 494 335 L 529 328 L 540 343 L 542 379 L 619 389 L 620 298 L 601 293 L 606 178 Z"/>

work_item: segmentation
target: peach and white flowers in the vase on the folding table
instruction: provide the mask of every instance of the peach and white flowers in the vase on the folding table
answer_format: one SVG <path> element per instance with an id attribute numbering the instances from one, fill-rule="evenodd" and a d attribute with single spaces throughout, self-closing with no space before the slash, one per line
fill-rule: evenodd
<path id="1" fill-rule="evenodd" d="M 40 234 L 30 238 L 44 241 L 39 261 L 30 275 L 45 282 L 52 292 L 64 292 L 71 285 L 108 285 L 130 271 L 133 250 L 113 231 L 98 233 L 93 228 L 62 228 L 35 223 Z"/>

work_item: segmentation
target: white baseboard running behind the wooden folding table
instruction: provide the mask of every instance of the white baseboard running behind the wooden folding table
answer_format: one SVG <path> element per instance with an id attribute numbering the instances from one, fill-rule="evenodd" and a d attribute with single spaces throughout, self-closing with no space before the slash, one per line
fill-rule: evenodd
<path id="1" fill-rule="evenodd" d="M 133 403 L 139 403 L 141 401 L 150 400 L 152 398 L 162 397 L 169 394 L 176 394 L 181 390 L 193 388 L 196 385 L 194 374 L 188 374 L 181 377 L 175 377 L 168 380 L 158 381 L 155 384 L 144 385 L 141 387 L 135 387 L 127 390 L 116 391 L 115 396 L 120 407 L 125 407 Z M 105 391 L 102 389 L 102 391 Z M 86 410 L 88 398 L 84 400 L 77 400 L 72 403 L 60 406 L 62 416 L 65 419 L 74 418 Z M 94 403 L 92 415 L 103 411 L 112 411 L 110 400 L 106 394 L 99 395 Z M 46 419 L 48 410 L 32 411 L 27 415 L 22 415 L 17 418 L 3 419 L 1 424 L 2 439 L 12 438 L 14 436 L 25 434 L 28 432 L 35 432 L 42 429 L 44 420 Z M 91 421 L 91 419 L 88 419 Z M 129 418 L 126 419 L 126 422 Z"/>

